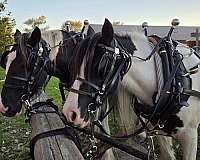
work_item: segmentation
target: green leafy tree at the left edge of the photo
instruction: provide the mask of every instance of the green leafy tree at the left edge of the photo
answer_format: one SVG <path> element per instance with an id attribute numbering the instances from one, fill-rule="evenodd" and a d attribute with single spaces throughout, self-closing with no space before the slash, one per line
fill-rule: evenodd
<path id="1" fill-rule="evenodd" d="M 7 1 L 0 2 L 0 53 L 5 51 L 5 47 L 13 44 L 13 28 L 15 20 L 11 17 L 11 12 L 6 11 Z"/>

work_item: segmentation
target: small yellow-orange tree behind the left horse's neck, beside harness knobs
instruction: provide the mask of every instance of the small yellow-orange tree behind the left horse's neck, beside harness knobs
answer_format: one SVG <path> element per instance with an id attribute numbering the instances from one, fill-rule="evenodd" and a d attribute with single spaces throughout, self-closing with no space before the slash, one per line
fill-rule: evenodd
<path id="1" fill-rule="evenodd" d="M 82 23 L 81 21 L 67 20 L 62 24 L 61 29 L 68 30 L 68 26 L 70 30 L 75 31 L 75 32 L 80 32 L 82 28 Z"/>

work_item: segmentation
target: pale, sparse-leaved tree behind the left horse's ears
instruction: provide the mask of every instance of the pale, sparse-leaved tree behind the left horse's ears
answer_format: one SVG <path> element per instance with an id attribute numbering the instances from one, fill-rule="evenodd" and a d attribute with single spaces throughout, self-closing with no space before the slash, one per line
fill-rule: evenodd
<path id="1" fill-rule="evenodd" d="M 24 24 L 27 26 L 24 28 L 25 32 L 30 32 L 33 30 L 36 26 L 39 27 L 42 31 L 48 30 L 49 26 L 46 24 L 46 17 L 45 16 L 39 16 L 36 18 L 29 18 L 27 19 Z"/>

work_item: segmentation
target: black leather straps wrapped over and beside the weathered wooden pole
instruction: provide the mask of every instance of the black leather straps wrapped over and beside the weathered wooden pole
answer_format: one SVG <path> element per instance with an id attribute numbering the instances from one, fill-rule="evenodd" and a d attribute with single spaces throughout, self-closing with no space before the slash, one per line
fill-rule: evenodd
<path id="1" fill-rule="evenodd" d="M 39 107 L 42 105 L 48 105 L 49 107 L 54 108 L 55 111 L 42 112 L 42 111 L 38 110 Z M 103 143 L 108 144 L 109 145 L 108 148 L 115 147 L 115 148 L 118 148 L 130 155 L 136 156 L 137 158 L 141 158 L 143 160 L 148 160 L 147 153 L 142 152 L 142 151 L 138 150 L 137 148 L 135 148 L 131 145 L 124 144 L 122 142 L 129 137 L 137 135 L 138 133 L 127 135 L 127 136 L 114 137 L 114 136 L 106 135 L 105 133 L 98 133 L 95 131 L 91 132 L 91 129 L 78 128 L 78 127 L 74 126 L 71 122 L 68 122 L 66 120 L 65 116 L 62 113 L 57 111 L 57 106 L 55 106 L 52 102 L 38 102 L 38 103 L 34 104 L 31 108 L 32 109 L 30 110 L 30 112 L 28 114 L 29 116 L 31 116 L 32 114 L 56 113 L 61 118 L 63 123 L 65 124 L 65 127 L 63 127 L 63 128 L 58 128 L 58 129 L 42 132 L 31 139 L 30 152 L 31 152 L 31 156 L 32 156 L 33 160 L 34 160 L 34 147 L 35 147 L 36 142 L 42 138 L 47 138 L 47 137 L 56 136 L 56 135 L 65 135 L 67 138 L 71 139 L 76 144 L 76 146 L 78 147 L 80 152 L 82 153 L 81 145 L 79 142 L 79 137 L 77 136 L 77 133 L 75 131 L 84 133 L 84 134 L 88 135 L 89 137 L 94 136 L 94 138 L 100 140 Z M 93 157 L 94 153 L 95 153 L 95 152 L 93 152 L 95 147 L 93 147 L 92 149 L 93 149 L 92 152 L 91 152 L 91 150 L 89 150 L 89 152 L 91 152 L 90 155 L 88 154 L 89 152 L 86 153 L 86 155 L 85 155 L 86 158 L 89 158 L 89 159 L 95 158 L 95 157 Z"/>

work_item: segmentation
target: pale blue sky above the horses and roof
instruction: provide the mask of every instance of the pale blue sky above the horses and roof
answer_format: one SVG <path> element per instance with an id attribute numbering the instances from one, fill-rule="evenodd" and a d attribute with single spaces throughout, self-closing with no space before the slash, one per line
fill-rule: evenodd
<path id="1" fill-rule="evenodd" d="M 200 26 L 200 0 L 8 0 L 7 10 L 23 29 L 28 18 L 46 16 L 50 29 L 66 20 L 88 19 L 102 24 L 105 18 L 127 25 L 168 26 L 173 18 L 182 26 Z"/>

